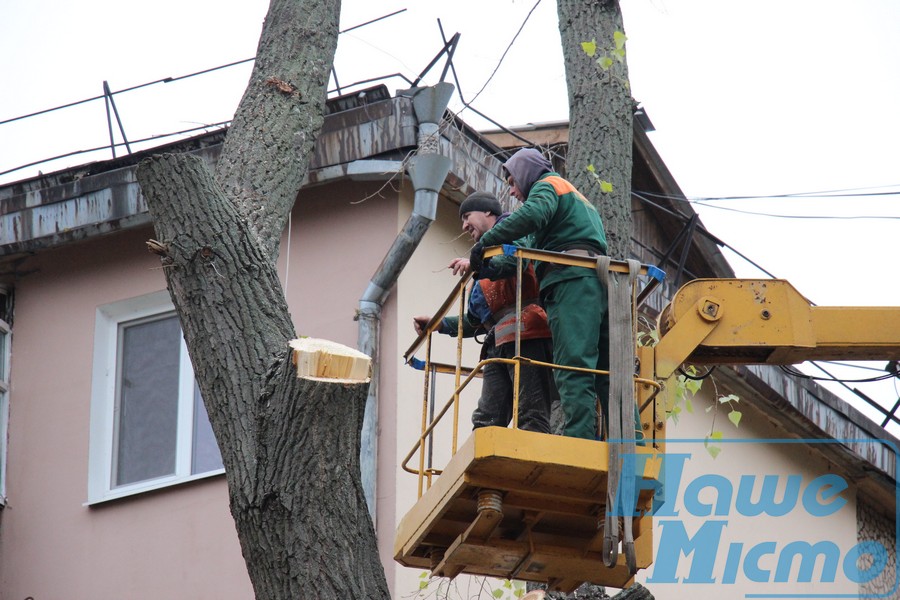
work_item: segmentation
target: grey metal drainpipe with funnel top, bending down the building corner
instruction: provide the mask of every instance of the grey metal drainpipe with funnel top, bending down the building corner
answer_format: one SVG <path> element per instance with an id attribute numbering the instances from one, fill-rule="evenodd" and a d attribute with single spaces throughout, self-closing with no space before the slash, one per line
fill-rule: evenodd
<path id="1" fill-rule="evenodd" d="M 375 520 L 375 488 L 378 448 L 378 385 L 381 346 L 381 309 L 403 267 L 437 214 L 438 192 L 450 172 L 450 159 L 440 154 L 439 124 L 453 93 L 453 85 L 439 83 L 420 88 L 413 95 L 413 109 L 419 121 L 418 151 L 410 160 L 409 176 L 415 189 L 412 214 L 394 240 L 381 265 L 375 271 L 359 301 L 359 338 L 361 352 L 372 357 L 372 381 L 366 398 L 360 449 L 360 469 L 369 514 Z"/>

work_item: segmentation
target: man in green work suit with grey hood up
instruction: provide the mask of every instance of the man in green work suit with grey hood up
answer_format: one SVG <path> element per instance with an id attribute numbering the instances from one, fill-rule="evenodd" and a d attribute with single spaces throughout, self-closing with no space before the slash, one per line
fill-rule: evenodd
<path id="1" fill-rule="evenodd" d="M 553 171 L 537 150 L 523 148 L 503 165 L 512 195 L 522 206 L 485 232 L 472 249 L 478 270 L 485 247 L 531 236 L 539 250 L 582 256 L 606 254 L 606 233 L 597 209 Z M 609 323 L 606 289 L 593 269 L 543 262 L 537 267 L 541 302 L 553 336 L 554 362 L 587 369 L 609 369 Z M 609 377 L 556 369 L 565 435 L 598 439 L 597 398 L 609 414 Z M 636 410 L 636 409 L 635 409 Z M 640 419 L 636 420 L 636 437 Z"/>

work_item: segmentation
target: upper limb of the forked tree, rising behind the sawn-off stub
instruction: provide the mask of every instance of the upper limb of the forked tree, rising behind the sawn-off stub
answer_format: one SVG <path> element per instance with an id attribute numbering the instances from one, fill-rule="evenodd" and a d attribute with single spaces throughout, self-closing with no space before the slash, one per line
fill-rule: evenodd
<path id="1" fill-rule="evenodd" d="M 216 165 L 216 179 L 272 262 L 322 127 L 340 14 L 340 0 L 271 0 L 253 73 Z"/>

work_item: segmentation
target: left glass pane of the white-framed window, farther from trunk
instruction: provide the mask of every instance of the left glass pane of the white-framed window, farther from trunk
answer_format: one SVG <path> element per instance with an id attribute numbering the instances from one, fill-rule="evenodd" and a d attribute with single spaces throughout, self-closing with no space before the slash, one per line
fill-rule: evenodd
<path id="1" fill-rule="evenodd" d="M 181 328 L 168 317 L 120 328 L 113 485 L 175 472 Z"/>

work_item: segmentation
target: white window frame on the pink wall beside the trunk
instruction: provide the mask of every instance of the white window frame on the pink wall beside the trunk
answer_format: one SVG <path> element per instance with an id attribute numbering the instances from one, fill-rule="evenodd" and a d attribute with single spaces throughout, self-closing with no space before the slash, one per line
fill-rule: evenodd
<path id="1" fill-rule="evenodd" d="M 175 473 L 132 484 L 112 486 L 115 438 L 116 361 L 119 350 L 119 325 L 128 321 L 174 314 L 175 307 L 167 291 L 97 307 L 94 323 L 94 363 L 91 387 L 91 429 L 88 459 L 88 500 L 96 504 L 195 481 L 225 472 L 216 469 L 191 474 L 194 423 L 194 371 L 184 339 L 180 344 L 179 402 L 175 452 Z"/>

